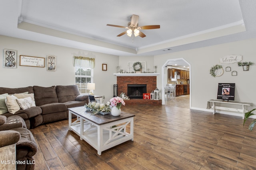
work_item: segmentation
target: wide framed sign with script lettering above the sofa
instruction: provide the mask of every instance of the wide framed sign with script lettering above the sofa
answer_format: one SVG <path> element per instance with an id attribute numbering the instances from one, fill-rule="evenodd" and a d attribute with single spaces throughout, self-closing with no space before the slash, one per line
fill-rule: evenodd
<path id="1" fill-rule="evenodd" d="M 44 58 L 20 55 L 20 66 L 44 67 Z"/>

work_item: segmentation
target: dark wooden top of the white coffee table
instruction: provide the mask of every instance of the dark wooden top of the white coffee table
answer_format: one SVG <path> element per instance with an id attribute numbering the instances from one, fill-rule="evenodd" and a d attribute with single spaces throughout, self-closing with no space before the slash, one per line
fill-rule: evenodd
<path id="1" fill-rule="evenodd" d="M 80 106 L 80 107 L 72 107 L 68 108 L 68 110 L 80 115 L 84 119 L 87 119 L 89 121 L 92 121 L 93 123 L 96 123 L 97 125 L 103 125 L 106 123 L 126 119 L 129 117 L 134 117 L 135 115 L 122 112 L 120 116 L 112 116 L 111 114 L 108 115 L 101 115 L 101 114 L 95 114 L 92 115 L 91 112 L 86 112 L 85 106 Z"/>

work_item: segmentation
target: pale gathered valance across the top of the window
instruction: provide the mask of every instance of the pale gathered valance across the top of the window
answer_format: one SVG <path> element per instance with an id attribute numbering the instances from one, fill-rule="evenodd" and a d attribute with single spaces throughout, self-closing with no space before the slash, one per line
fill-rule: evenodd
<path id="1" fill-rule="evenodd" d="M 82 68 L 94 68 L 95 59 L 89 57 L 74 56 L 74 66 Z"/>

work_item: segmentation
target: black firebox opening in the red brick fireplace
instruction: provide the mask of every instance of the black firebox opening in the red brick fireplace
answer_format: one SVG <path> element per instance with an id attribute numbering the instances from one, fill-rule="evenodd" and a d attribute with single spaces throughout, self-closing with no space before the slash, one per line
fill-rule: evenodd
<path id="1" fill-rule="evenodd" d="M 127 84 L 127 96 L 130 99 L 143 99 L 143 93 L 146 92 L 146 84 Z"/>

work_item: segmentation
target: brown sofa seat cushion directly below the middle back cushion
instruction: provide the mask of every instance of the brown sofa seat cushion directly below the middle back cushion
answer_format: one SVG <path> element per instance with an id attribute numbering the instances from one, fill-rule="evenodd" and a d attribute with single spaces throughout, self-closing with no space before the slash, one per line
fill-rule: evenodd
<path id="1" fill-rule="evenodd" d="M 50 103 L 50 104 L 44 104 L 40 106 L 42 109 L 42 115 L 46 115 L 49 113 L 56 113 L 61 111 L 66 111 L 67 106 L 63 103 Z"/>

